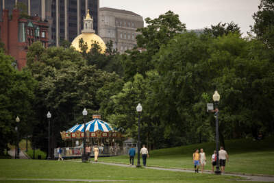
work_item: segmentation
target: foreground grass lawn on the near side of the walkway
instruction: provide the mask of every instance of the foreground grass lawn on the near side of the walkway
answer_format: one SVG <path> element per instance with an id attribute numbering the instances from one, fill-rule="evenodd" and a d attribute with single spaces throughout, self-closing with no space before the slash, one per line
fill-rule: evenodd
<path id="1" fill-rule="evenodd" d="M 0 160 L 0 178 L 128 180 L 128 182 L 236 182 L 236 177 L 116 167 L 55 160 Z M 239 179 L 238 179 L 239 180 Z M 0 182 L 34 182 L 0 180 Z M 37 181 L 36 181 L 37 182 Z M 39 181 L 40 182 L 40 181 Z M 47 181 L 43 181 L 47 182 Z"/>

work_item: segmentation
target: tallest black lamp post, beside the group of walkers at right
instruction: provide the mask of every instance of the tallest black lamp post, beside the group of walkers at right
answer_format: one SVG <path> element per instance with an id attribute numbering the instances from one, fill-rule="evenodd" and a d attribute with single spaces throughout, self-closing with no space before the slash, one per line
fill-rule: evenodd
<path id="1" fill-rule="evenodd" d="M 213 95 L 213 101 L 214 101 L 214 106 L 215 106 L 215 116 L 216 116 L 216 171 L 215 174 L 216 175 L 221 175 L 221 171 L 220 171 L 220 167 L 219 167 L 219 121 L 218 121 L 218 117 L 219 117 L 219 101 L 220 101 L 220 95 L 218 93 L 218 91 L 214 92 Z"/>

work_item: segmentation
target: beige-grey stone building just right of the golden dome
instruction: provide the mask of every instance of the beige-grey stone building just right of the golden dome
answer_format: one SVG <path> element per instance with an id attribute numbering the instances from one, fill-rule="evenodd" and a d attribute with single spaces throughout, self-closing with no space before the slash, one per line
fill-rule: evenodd
<path id="1" fill-rule="evenodd" d="M 113 48 L 123 53 L 136 46 L 136 29 L 144 27 L 142 16 L 127 10 L 99 8 L 99 36 L 113 41 Z"/>

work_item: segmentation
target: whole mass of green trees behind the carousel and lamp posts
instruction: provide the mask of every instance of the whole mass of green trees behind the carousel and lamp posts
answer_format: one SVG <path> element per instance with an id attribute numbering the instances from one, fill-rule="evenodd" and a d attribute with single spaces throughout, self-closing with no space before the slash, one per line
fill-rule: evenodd
<path id="1" fill-rule="evenodd" d="M 214 90 L 221 95 L 223 145 L 229 138 L 269 136 L 274 132 L 273 12 L 273 1 L 262 0 L 253 16 L 257 36 L 242 38 L 234 22 L 212 25 L 200 36 L 188 33 L 169 11 L 145 19 L 138 47 L 124 54 L 113 50 L 112 42 L 105 53 L 96 42 L 87 52 L 84 40 L 79 41 L 82 53 L 66 41 L 48 49 L 35 42 L 21 72 L 1 51 L 1 148 L 14 143 L 18 115 L 21 136 L 32 134 L 33 145 L 46 150 L 47 111 L 51 147 L 64 145 L 60 131 L 82 123 L 83 108 L 89 119 L 99 112 L 125 136 L 136 138 L 138 103 L 143 106 L 141 140 L 149 147 L 214 141 L 215 119 L 206 112 Z"/>

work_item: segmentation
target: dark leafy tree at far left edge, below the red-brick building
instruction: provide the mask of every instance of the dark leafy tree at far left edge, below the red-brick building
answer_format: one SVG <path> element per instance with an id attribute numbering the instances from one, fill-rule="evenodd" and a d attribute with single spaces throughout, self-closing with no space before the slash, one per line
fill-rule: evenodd
<path id="1" fill-rule="evenodd" d="M 0 49 L 0 155 L 8 143 L 16 139 L 15 126 L 21 136 L 29 129 L 28 121 L 32 121 L 34 110 L 34 88 L 36 81 L 28 71 L 17 71 L 12 66 L 14 59 L 5 55 Z M 20 123 L 16 123 L 16 117 Z"/>

